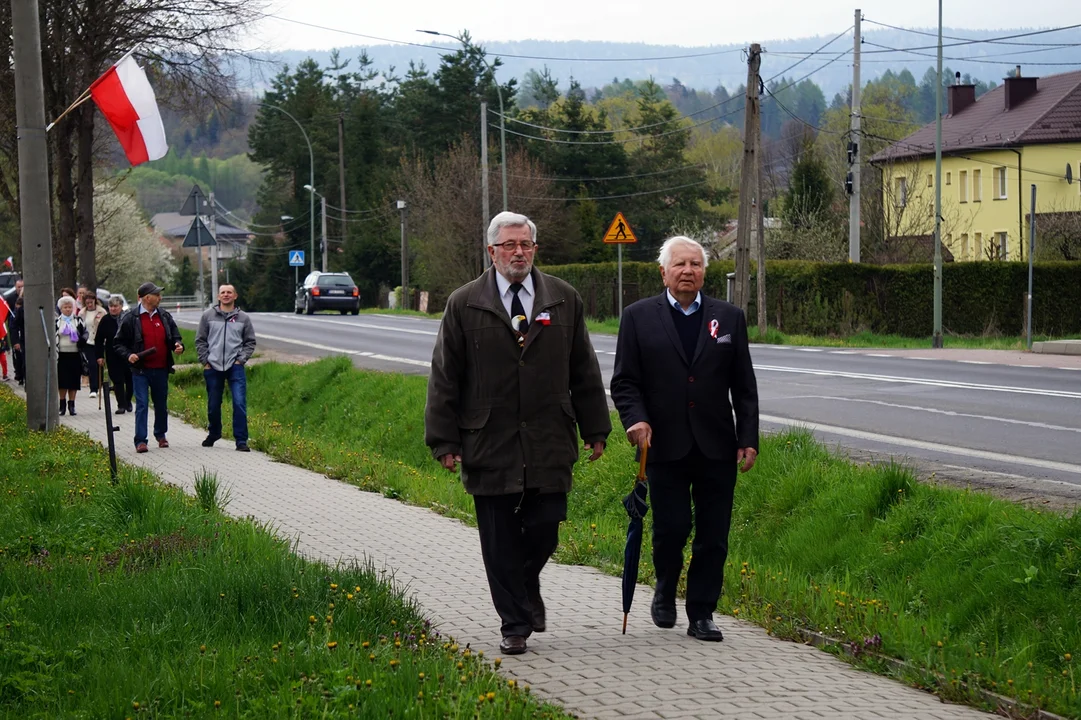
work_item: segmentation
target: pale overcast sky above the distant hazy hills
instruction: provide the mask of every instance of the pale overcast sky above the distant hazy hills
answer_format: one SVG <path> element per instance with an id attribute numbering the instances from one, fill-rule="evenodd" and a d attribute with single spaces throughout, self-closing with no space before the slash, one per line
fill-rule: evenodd
<path id="1" fill-rule="evenodd" d="M 455 35 L 468 30 L 479 41 L 615 40 L 651 44 L 709 45 L 836 35 L 852 25 L 852 0 L 271 0 L 269 12 L 295 21 L 406 42 L 445 42 L 416 28 Z M 933 0 L 866 0 L 866 19 L 904 27 L 937 25 Z M 1055 27 L 1081 23 L 1073 0 L 945 0 L 947 27 L 996 29 Z M 873 26 L 865 26 L 868 29 Z M 1053 36 L 1052 36 L 1053 37 Z M 331 30 L 266 19 L 255 44 L 267 50 L 326 50 L 378 44 Z"/>

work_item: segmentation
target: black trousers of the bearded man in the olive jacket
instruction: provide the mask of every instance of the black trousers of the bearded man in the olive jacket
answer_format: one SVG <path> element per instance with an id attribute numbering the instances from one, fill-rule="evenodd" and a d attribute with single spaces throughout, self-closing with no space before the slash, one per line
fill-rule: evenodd
<path id="1" fill-rule="evenodd" d="M 473 495 L 480 549 L 492 603 L 504 637 L 533 632 L 533 601 L 540 598 L 540 570 L 559 545 L 566 493 Z"/>

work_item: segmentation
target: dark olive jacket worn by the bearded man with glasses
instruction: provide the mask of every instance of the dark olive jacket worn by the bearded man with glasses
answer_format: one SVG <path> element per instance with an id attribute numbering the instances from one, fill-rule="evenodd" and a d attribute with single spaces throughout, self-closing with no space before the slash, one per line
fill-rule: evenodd
<path id="1" fill-rule="evenodd" d="M 470 495 L 507 495 L 525 486 L 568 492 L 577 434 L 596 442 L 612 430 L 582 297 L 536 268 L 533 288 L 524 347 L 497 295 L 494 268 L 451 294 L 439 325 L 425 443 L 437 458 L 462 454 L 462 481 Z M 547 325 L 536 319 L 543 312 Z"/>

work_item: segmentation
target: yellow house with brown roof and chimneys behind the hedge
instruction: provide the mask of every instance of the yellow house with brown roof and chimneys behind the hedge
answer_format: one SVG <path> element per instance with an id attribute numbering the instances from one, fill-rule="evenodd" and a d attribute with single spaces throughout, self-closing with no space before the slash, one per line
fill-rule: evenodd
<path id="1" fill-rule="evenodd" d="M 955 259 L 1027 259 L 1032 185 L 1038 241 L 1052 218 L 1077 216 L 1081 230 L 1081 71 L 1026 78 L 1017 66 L 979 99 L 975 85 L 947 90 L 942 238 Z M 871 163 L 882 172 L 886 236 L 932 236 L 935 123 Z"/>

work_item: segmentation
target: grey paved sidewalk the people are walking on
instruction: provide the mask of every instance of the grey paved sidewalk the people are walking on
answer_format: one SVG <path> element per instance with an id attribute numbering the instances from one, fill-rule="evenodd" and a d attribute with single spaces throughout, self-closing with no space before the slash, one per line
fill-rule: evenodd
<path id="1" fill-rule="evenodd" d="M 93 404 L 92 404 L 93 403 Z M 64 423 L 105 441 L 105 413 L 80 398 Z M 203 468 L 230 489 L 228 511 L 269 522 L 298 538 L 305 556 L 335 562 L 371 559 L 405 586 L 439 628 L 489 657 L 498 652 L 499 622 L 484 581 L 477 531 L 423 508 L 361 492 L 231 442 L 204 449 L 204 431 L 173 417 L 168 450 L 151 443 L 135 454 L 134 418 L 121 427 L 118 455 L 192 491 Z M 771 638 L 749 623 L 720 615 L 723 643 L 688 638 L 680 625 L 650 621 L 652 590 L 640 586 L 626 636 L 617 577 L 588 568 L 549 564 L 542 587 L 548 631 L 502 670 L 546 698 L 588 718 L 773 718 L 897 720 L 986 718 L 927 693 L 857 670 L 810 646 Z"/>

